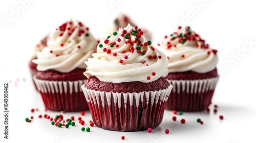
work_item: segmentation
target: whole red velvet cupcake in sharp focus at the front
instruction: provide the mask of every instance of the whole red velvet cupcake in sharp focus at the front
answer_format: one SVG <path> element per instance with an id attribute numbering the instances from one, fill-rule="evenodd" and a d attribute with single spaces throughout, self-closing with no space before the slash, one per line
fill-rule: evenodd
<path id="1" fill-rule="evenodd" d="M 128 25 L 97 46 L 87 62 L 82 90 L 96 126 L 113 131 L 156 128 L 172 85 L 167 57 Z"/>

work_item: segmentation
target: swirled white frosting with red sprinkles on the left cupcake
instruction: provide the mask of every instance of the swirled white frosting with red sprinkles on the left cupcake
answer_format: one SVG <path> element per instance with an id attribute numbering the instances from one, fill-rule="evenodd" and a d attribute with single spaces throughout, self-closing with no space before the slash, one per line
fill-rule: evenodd
<path id="1" fill-rule="evenodd" d="M 69 73 L 86 68 L 84 61 L 95 52 L 96 39 L 89 28 L 78 20 L 69 20 L 50 33 L 47 47 L 37 52 L 37 70 L 53 69 Z"/>

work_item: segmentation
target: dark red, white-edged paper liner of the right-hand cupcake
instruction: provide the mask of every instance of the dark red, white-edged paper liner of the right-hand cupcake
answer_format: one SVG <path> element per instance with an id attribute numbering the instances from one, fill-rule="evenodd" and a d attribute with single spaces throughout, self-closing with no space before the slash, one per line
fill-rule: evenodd
<path id="1" fill-rule="evenodd" d="M 166 109 L 202 111 L 211 103 L 219 77 L 202 80 L 167 80 L 173 85 Z"/>

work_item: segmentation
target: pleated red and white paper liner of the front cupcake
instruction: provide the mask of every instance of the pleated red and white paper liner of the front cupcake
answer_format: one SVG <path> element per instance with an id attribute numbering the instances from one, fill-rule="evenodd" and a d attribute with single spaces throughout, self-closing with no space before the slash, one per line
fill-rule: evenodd
<path id="1" fill-rule="evenodd" d="M 86 88 L 86 97 L 96 126 L 113 131 L 140 131 L 162 122 L 172 85 L 159 91 L 133 93 L 105 92 Z"/>

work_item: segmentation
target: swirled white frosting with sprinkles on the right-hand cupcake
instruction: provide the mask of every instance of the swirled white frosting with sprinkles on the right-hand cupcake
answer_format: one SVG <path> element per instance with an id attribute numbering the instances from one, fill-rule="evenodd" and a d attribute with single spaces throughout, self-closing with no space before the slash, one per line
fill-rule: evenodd
<path id="1" fill-rule="evenodd" d="M 178 27 L 177 32 L 165 36 L 158 45 L 167 55 L 169 73 L 207 73 L 216 68 L 217 50 L 211 49 L 190 27 Z"/>

